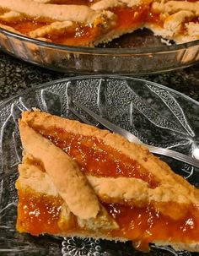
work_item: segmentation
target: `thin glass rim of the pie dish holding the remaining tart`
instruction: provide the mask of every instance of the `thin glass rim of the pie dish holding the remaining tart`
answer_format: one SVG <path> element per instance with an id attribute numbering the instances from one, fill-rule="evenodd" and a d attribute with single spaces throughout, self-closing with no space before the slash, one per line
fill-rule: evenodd
<path id="1" fill-rule="evenodd" d="M 157 52 L 171 52 L 177 51 L 181 49 L 188 49 L 191 46 L 199 46 L 199 39 L 195 41 L 188 41 L 182 44 L 175 44 L 171 46 L 150 46 L 150 47 L 135 47 L 135 48 L 96 48 L 96 47 L 83 47 L 83 46 L 64 46 L 60 44 L 55 44 L 46 41 L 39 41 L 34 38 L 27 37 L 25 35 L 19 35 L 14 32 L 5 30 L 0 27 L 0 32 L 3 35 L 8 35 L 13 38 L 16 38 L 20 41 L 34 43 L 37 46 L 45 46 L 54 48 L 56 50 L 62 50 L 67 52 L 75 52 L 75 53 L 82 53 L 82 54 L 94 54 L 94 55 L 110 55 L 110 56 L 125 56 L 125 55 L 144 55 L 144 54 L 151 54 Z"/>

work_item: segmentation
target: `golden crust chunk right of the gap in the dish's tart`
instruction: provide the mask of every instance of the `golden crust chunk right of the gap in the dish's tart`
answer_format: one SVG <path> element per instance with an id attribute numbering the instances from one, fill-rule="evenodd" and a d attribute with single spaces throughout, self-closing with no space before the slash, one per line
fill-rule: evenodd
<path id="1" fill-rule="evenodd" d="M 177 43 L 194 41 L 199 39 L 199 31 L 196 29 L 199 17 L 199 2 L 187 1 L 153 1 L 152 12 L 162 19 L 161 25 L 147 22 L 146 27 L 153 30 L 154 34 L 173 40 Z M 188 28 L 195 26 L 195 33 Z"/>

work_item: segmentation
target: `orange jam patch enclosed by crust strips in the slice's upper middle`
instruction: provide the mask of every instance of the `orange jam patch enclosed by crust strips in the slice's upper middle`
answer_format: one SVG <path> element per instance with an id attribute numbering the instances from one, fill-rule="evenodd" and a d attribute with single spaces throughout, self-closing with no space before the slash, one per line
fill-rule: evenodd
<path id="1" fill-rule="evenodd" d="M 153 174 L 137 161 L 111 148 L 100 139 L 67 133 L 61 128 L 34 129 L 70 155 L 86 174 L 96 177 L 137 177 L 148 182 L 150 188 L 159 185 Z"/>

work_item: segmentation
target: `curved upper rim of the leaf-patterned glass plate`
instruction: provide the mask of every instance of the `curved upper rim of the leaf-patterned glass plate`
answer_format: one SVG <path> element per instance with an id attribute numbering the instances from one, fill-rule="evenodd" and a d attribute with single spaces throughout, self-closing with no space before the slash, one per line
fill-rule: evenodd
<path id="1" fill-rule="evenodd" d="M 71 81 L 71 80 L 103 79 L 103 78 L 105 78 L 105 79 L 123 79 L 123 80 L 130 79 L 130 80 L 136 80 L 136 81 L 141 81 L 141 82 L 144 82 L 144 83 L 152 84 L 152 85 L 157 86 L 161 89 L 168 90 L 169 92 L 173 92 L 177 95 L 180 95 L 181 97 L 184 97 L 187 101 L 191 101 L 192 103 L 196 104 L 199 107 L 199 102 L 192 99 L 190 96 L 187 96 L 187 95 L 181 93 L 178 90 L 171 89 L 168 86 L 165 86 L 165 85 L 162 85 L 162 84 L 159 84 L 159 83 L 155 83 L 155 82 L 152 82 L 152 81 L 149 81 L 149 80 L 146 80 L 146 79 L 138 79 L 138 78 L 134 78 L 134 77 L 129 77 L 129 76 L 125 76 L 125 75 L 93 74 L 93 75 L 78 75 L 78 76 L 73 76 L 73 77 L 66 77 L 66 78 L 63 78 L 63 79 L 51 80 L 51 81 L 48 81 L 48 82 L 42 83 L 42 84 L 35 84 L 34 87 L 23 90 L 23 91 L 17 93 L 16 95 L 13 95 L 13 96 L 9 97 L 8 99 L 0 102 L 0 111 L 2 110 L 3 106 L 6 106 L 7 104 L 11 103 L 13 100 L 17 99 L 19 96 L 26 95 L 31 91 L 39 90 L 39 89 L 42 89 L 42 88 L 44 89 L 44 88 L 47 88 L 47 87 L 49 87 L 53 84 L 62 83 L 62 82 L 66 82 L 66 81 Z"/>

